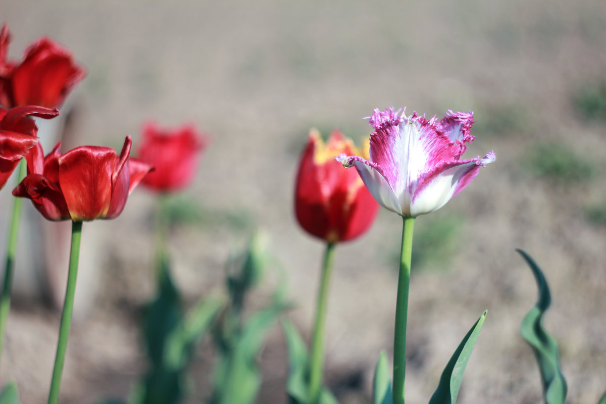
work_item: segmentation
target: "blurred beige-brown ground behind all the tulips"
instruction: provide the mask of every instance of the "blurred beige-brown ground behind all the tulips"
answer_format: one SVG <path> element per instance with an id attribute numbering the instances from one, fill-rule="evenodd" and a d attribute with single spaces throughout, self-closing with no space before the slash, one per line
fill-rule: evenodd
<path id="1" fill-rule="evenodd" d="M 518 247 L 550 281 L 546 325 L 561 345 L 570 402 L 597 402 L 604 391 L 604 1 L 0 0 L 0 16 L 13 33 L 11 58 L 48 35 L 87 68 L 68 102 L 79 144 L 119 148 L 127 134 L 136 144 L 147 119 L 194 122 L 210 135 L 195 185 L 172 202 L 176 282 L 191 302 L 221 288 L 230 252 L 261 227 L 288 276 L 296 303 L 288 316 L 305 337 L 323 251 L 293 216 L 308 130 L 340 128 L 358 142 L 373 108 L 473 110 L 477 139 L 466 155 L 494 150 L 497 161 L 416 222 L 408 401 L 427 402 L 488 309 L 459 402 L 540 402 L 534 357 L 519 335 L 536 289 Z M 102 268 L 72 328 L 64 403 L 125 397 L 141 374 L 152 209 L 153 196 L 138 189 L 119 219 L 84 225 L 84 238 L 104 234 Z M 391 355 L 400 232 L 399 218 L 381 211 L 365 236 L 336 251 L 326 381 L 342 403 L 368 402 L 379 351 Z M 15 379 L 24 403 L 45 400 L 58 319 L 36 299 L 15 298 L 0 380 Z M 207 397 L 208 354 L 202 346 L 193 366 L 191 403 Z M 279 329 L 261 360 L 258 402 L 285 403 Z"/>

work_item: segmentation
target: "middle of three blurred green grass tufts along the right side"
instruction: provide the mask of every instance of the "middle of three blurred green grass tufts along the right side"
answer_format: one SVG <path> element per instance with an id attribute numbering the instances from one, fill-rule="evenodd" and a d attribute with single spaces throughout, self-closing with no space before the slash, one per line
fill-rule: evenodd
<path id="1" fill-rule="evenodd" d="M 593 161 L 577 154 L 571 147 L 555 142 L 528 148 L 522 167 L 533 176 L 547 179 L 553 184 L 586 182 L 598 171 Z"/>

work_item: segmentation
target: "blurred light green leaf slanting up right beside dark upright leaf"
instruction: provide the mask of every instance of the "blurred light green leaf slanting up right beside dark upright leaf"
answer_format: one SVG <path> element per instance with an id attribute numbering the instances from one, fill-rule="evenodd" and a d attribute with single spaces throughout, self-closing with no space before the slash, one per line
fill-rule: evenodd
<path id="1" fill-rule="evenodd" d="M 191 360 L 197 340 L 207 332 L 224 300 L 212 298 L 201 300 L 187 319 L 183 320 L 167 337 L 164 363 L 168 369 L 183 369 Z"/>

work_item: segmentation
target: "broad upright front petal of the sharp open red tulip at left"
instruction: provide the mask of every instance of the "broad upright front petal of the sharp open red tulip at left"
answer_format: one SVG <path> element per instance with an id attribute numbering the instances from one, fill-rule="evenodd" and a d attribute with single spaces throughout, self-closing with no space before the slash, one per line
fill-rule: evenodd
<path id="1" fill-rule="evenodd" d="M 112 200 L 116 151 L 82 146 L 59 157 L 59 186 L 72 220 L 105 217 Z"/>

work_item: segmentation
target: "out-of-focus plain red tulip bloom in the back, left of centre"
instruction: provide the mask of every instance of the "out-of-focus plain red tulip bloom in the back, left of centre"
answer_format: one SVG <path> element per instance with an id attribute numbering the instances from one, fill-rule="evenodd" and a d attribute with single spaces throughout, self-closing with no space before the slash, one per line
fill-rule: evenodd
<path id="1" fill-rule="evenodd" d="M 207 139 L 193 125 L 170 130 L 158 128 L 155 122 L 147 122 L 142 132 L 139 159 L 156 169 L 145 176 L 142 183 L 158 192 L 187 187 L 196 174 L 198 157 L 207 145 Z"/>

